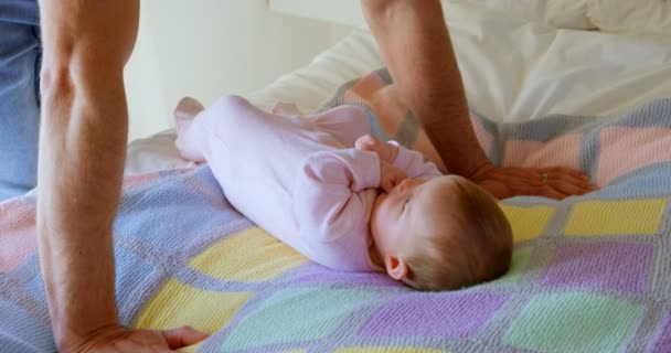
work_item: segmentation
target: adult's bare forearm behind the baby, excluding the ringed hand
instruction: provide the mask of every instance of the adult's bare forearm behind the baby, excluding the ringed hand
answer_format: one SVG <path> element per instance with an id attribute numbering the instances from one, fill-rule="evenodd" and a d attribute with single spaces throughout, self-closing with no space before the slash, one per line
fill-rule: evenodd
<path id="1" fill-rule="evenodd" d="M 362 4 L 401 98 L 448 170 L 472 175 L 489 161 L 469 119 L 440 1 L 362 0 Z"/>

